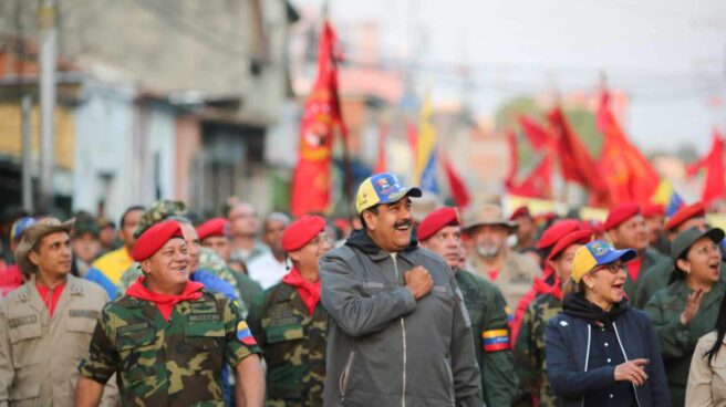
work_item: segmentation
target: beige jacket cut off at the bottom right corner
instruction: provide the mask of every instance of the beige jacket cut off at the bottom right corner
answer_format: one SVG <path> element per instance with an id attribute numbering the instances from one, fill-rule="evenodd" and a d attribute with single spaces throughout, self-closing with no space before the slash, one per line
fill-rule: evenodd
<path id="1" fill-rule="evenodd" d="M 698 340 L 691 359 L 688 384 L 686 385 L 686 406 L 726 406 L 726 347 L 722 343 L 722 348 L 713 358 L 711 366 L 708 358 L 703 357 L 715 342 L 715 331 Z"/>

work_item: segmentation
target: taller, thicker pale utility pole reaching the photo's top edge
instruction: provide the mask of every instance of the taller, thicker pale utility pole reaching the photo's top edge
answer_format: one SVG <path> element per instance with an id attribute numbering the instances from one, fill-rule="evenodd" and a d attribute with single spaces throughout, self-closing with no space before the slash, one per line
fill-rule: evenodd
<path id="1" fill-rule="evenodd" d="M 58 0 L 42 0 L 38 11 L 40 27 L 40 199 L 39 209 L 50 211 L 53 205 L 53 167 L 55 153 L 55 64 Z"/>

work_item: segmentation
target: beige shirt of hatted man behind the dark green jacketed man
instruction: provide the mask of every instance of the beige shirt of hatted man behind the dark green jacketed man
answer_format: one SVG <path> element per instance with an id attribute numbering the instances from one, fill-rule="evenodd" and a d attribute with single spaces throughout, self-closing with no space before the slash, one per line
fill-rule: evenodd
<path id="1" fill-rule="evenodd" d="M 519 300 L 532 288 L 535 279 L 542 274 L 537 263 L 525 254 L 507 250 L 506 258 L 496 280 L 489 278 L 489 270 L 475 252 L 469 258 L 469 270 L 492 282 L 507 300 L 507 305 L 514 311 Z"/>

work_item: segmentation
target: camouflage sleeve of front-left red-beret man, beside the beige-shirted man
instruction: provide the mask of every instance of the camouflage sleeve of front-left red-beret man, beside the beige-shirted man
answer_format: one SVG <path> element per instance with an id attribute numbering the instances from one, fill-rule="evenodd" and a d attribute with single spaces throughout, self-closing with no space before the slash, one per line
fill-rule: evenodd
<path id="1" fill-rule="evenodd" d="M 108 333 L 108 306 L 106 305 L 101 319 L 96 322 L 96 327 L 91 337 L 89 345 L 89 356 L 81 359 L 79 372 L 82 376 L 105 384 L 118 367 L 118 354 Z"/>

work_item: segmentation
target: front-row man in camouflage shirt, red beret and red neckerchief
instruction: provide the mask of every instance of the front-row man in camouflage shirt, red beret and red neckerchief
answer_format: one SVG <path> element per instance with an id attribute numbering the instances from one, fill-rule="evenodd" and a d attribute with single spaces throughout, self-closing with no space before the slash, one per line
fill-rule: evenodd
<path id="1" fill-rule="evenodd" d="M 107 304 L 79 367 L 75 405 L 95 406 L 118 374 L 124 405 L 224 406 L 221 371 L 237 374 L 237 399 L 260 407 L 265 383 L 253 336 L 227 296 L 189 281 L 187 246 L 173 220 L 137 240 L 144 276 Z"/>

